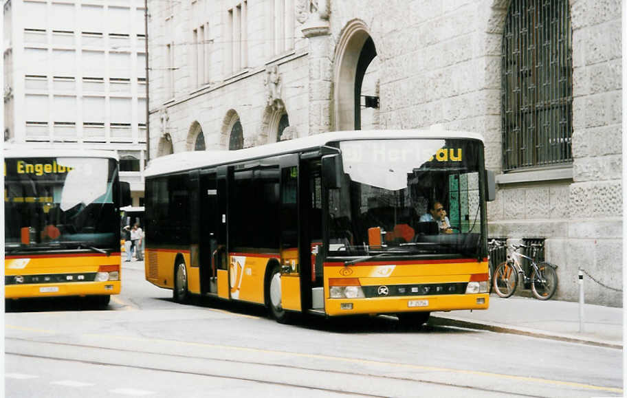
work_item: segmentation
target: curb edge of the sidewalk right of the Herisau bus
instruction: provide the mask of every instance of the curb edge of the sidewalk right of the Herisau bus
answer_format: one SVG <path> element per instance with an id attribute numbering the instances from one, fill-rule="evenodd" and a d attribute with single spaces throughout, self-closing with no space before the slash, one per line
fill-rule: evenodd
<path id="1" fill-rule="evenodd" d="M 619 344 L 617 342 L 609 342 L 606 340 L 595 340 L 590 338 L 580 338 L 575 335 L 564 335 L 559 333 L 551 333 L 548 331 L 539 331 L 537 329 L 524 329 L 524 328 L 515 328 L 508 325 L 503 324 L 494 324 L 490 322 L 471 322 L 467 320 L 461 320 L 459 318 L 445 318 L 439 316 L 431 316 L 429 318 L 428 324 L 433 326 L 453 326 L 453 327 L 463 327 L 467 329 L 477 329 L 477 330 L 486 330 L 493 331 L 496 333 L 509 333 L 516 335 L 526 335 L 534 338 L 544 338 L 549 340 L 559 340 L 562 342 L 571 342 L 571 343 L 580 343 L 580 344 L 588 344 L 592 346 L 601 346 L 610 349 L 623 349 L 623 344 Z"/>

